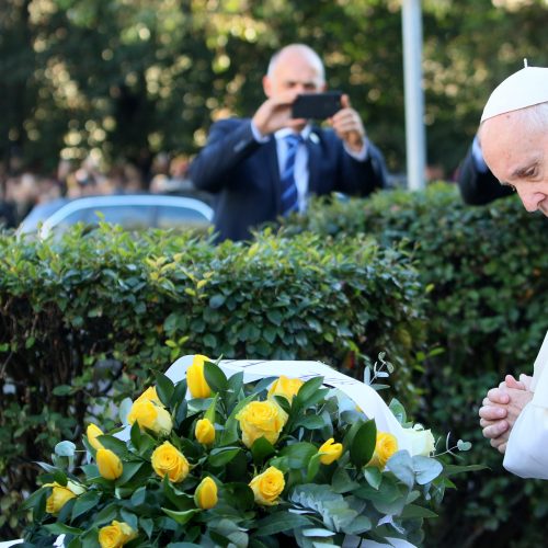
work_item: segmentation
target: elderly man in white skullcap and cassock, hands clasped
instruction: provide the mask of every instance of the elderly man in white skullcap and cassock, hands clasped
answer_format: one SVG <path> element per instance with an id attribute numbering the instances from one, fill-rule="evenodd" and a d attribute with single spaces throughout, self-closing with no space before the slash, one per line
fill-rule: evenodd
<path id="1" fill-rule="evenodd" d="M 548 68 L 525 67 L 493 91 L 479 140 L 494 176 L 517 192 L 528 212 L 548 216 Z M 548 333 L 533 377 L 506 375 L 487 392 L 479 415 L 509 471 L 548 479 Z"/>

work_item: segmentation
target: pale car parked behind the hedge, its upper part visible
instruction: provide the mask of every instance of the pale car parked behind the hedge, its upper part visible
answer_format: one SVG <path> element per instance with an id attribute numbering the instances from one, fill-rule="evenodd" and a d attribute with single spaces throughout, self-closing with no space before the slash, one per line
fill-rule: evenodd
<path id="1" fill-rule="evenodd" d="M 67 199 L 35 206 L 18 228 L 20 233 L 37 232 L 46 238 L 77 222 L 96 226 L 101 220 L 127 230 L 155 228 L 207 228 L 213 209 L 186 196 L 162 194 L 110 194 Z"/>

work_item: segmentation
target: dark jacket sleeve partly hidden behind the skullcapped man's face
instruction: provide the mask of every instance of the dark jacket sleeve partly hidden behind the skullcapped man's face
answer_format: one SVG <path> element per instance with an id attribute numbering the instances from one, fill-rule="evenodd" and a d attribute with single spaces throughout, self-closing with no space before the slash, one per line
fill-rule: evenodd
<path id="1" fill-rule="evenodd" d="M 493 199 L 510 196 L 513 191 L 503 186 L 490 170 L 481 172 L 473 160 L 472 147 L 463 160 L 457 175 L 458 187 L 465 204 L 484 205 Z"/>

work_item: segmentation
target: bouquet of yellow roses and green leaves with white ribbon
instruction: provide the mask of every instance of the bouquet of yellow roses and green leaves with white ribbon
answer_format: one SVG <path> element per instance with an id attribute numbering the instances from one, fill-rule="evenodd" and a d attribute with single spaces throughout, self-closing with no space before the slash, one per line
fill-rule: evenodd
<path id="1" fill-rule="evenodd" d="M 304 363 L 315 365 L 312 375 L 286 362 L 298 375 L 281 375 L 279 366 L 250 377 L 251 362 L 185 358 L 182 369 L 175 363 L 167 375 L 155 373 L 156 385 L 123 413 L 125 429 L 107 434 L 88 426 L 85 464 L 75 467 L 71 442 L 57 445 L 53 465 L 41 463 L 42 487 L 25 501 L 33 512 L 27 543 L 176 548 L 422 540 L 423 520 L 435 516 L 453 487 L 452 470 L 432 456 L 430 431 L 403 427 L 375 390 L 323 364 Z M 376 416 L 356 406 L 345 383 L 365 393 L 364 407 L 378 398 Z M 404 421 L 401 409 L 398 415 Z"/>

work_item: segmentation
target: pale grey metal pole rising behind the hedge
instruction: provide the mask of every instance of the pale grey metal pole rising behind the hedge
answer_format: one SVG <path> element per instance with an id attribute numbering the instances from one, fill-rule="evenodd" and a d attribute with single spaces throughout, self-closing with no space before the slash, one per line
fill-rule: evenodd
<path id="1" fill-rule="evenodd" d="M 406 149 L 408 187 L 424 189 L 426 138 L 424 132 L 424 93 L 422 90 L 421 0 L 403 0 L 403 80 L 406 93 Z"/>

